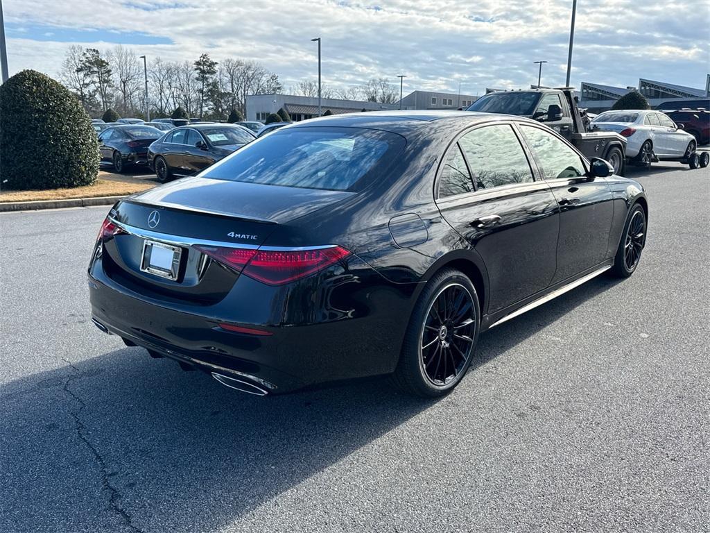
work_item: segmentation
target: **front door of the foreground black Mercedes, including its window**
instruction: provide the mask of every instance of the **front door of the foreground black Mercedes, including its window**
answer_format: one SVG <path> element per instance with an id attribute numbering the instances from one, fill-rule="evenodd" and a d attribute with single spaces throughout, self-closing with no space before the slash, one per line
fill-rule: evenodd
<path id="1" fill-rule="evenodd" d="M 520 124 L 559 205 L 557 269 L 552 284 L 608 259 L 613 196 L 606 180 L 586 177 L 579 152 L 548 131 Z"/>

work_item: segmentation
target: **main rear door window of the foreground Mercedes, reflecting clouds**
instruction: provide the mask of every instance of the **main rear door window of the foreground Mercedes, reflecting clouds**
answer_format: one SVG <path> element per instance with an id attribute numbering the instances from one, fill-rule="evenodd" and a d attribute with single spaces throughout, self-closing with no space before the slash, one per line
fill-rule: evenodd
<path id="1" fill-rule="evenodd" d="M 474 129 L 461 137 L 459 144 L 471 165 L 477 188 L 532 181 L 528 158 L 510 125 Z"/>

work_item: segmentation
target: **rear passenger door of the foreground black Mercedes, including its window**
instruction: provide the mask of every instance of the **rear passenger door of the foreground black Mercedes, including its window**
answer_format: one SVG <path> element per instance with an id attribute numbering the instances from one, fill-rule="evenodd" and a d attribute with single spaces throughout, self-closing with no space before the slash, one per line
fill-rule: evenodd
<path id="1" fill-rule="evenodd" d="M 453 195 L 439 194 L 437 203 L 444 220 L 484 262 L 486 312 L 494 313 L 549 286 L 556 269 L 557 203 L 546 183 L 532 181 L 528 159 L 509 124 L 474 129 L 459 144 L 476 190 L 447 187 L 444 192 Z M 444 177 L 442 172 L 439 192 Z"/>

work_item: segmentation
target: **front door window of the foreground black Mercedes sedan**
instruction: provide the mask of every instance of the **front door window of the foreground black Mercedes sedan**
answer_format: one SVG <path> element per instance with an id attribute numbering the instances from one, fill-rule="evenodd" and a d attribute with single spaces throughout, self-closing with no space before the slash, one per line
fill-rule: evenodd
<path id="1" fill-rule="evenodd" d="M 584 176 L 586 168 L 581 157 L 567 144 L 544 129 L 534 126 L 520 124 L 520 131 L 523 131 L 525 139 L 528 139 L 528 144 L 540 161 L 546 180 Z"/>

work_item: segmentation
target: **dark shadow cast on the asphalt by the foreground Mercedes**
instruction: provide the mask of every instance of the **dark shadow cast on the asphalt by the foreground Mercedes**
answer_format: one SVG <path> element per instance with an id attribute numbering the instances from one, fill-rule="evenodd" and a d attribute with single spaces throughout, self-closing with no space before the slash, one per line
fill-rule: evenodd
<path id="1" fill-rule="evenodd" d="M 614 284 L 600 276 L 484 333 L 471 372 Z M 68 353 L 2 387 L 0 530 L 219 529 L 362 448 L 396 446 L 378 438 L 471 392 L 464 379 L 416 399 L 378 377 L 260 398 L 139 348 Z"/>

